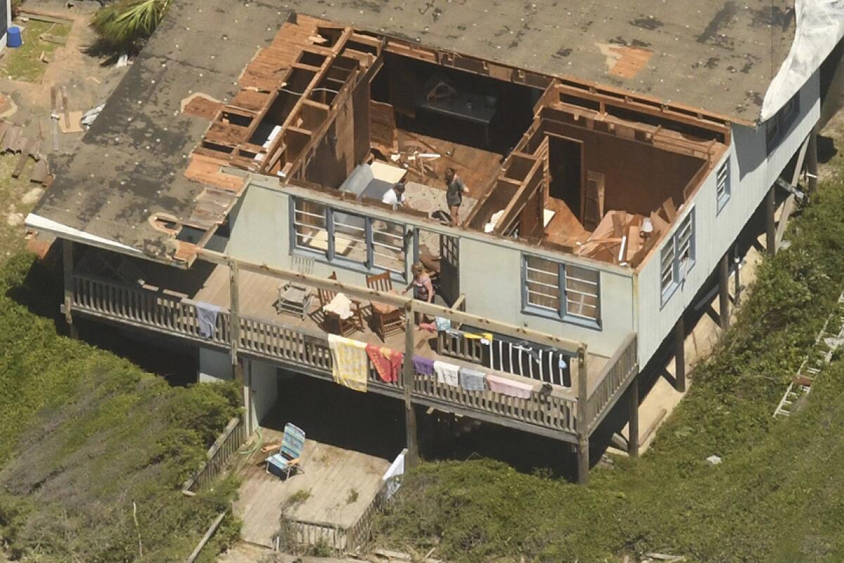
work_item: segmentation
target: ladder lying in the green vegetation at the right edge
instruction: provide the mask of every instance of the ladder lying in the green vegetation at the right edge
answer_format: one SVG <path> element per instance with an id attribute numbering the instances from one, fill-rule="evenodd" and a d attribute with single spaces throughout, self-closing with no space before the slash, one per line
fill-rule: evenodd
<path id="1" fill-rule="evenodd" d="M 839 326 L 841 327 L 838 333 L 833 334 L 829 332 L 830 322 L 838 317 Z M 800 364 L 797 375 L 791 383 L 782 400 L 774 410 L 775 419 L 784 419 L 799 408 L 800 399 L 806 397 L 812 389 L 812 383 L 820 375 L 820 371 L 826 364 L 832 360 L 832 355 L 835 353 L 841 344 L 844 344 L 844 293 L 838 296 L 838 303 L 836 311 L 833 311 L 824 322 L 824 327 L 820 329 L 818 336 L 814 338 L 814 346 L 809 350 L 809 354 Z"/>

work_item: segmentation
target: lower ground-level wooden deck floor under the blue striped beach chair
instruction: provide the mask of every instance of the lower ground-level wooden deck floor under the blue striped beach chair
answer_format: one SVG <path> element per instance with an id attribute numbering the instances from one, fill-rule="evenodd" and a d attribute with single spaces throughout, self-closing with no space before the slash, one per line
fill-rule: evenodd
<path id="1" fill-rule="evenodd" d="M 265 427 L 261 430 L 265 444 L 281 443 L 283 432 Z M 243 520 L 242 539 L 268 546 L 273 545 L 283 515 L 338 528 L 353 526 L 375 498 L 381 477 L 390 467 L 390 462 L 381 457 L 310 439 L 301 457 L 304 473 L 279 479 L 266 472 L 266 457 L 260 451 L 253 453 L 238 472 L 242 485 L 234 508 Z M 291 501 L 294 495 L 304 498 Z"/>

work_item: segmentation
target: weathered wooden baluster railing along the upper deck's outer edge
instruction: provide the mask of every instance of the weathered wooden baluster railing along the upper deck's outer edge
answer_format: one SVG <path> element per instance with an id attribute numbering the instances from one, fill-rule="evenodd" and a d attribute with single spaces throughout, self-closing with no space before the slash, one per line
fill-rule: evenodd
<path id="1" fill-rule="evenodd" d="M 74 274 L 73 308 L 78 311 L 119 322 L 152 328 L 159 332 L 174 333 L 186 338 L 219 346 L 230 347 L 230 313 L 222 310 L 211 338 L 199 333 L 197 304 L 192 300 L 178 299 L 143 288 L 132 288 L 110 281 Z M 330 377 L 331 352 L 327 337 L 306 328 L 291 328 L 253 317 L 238 317 L 239 353 L 250 354 L 271 361 L 280 361 L 296 367 L 311 368 L 317 375 Z M 473 352 L 467 360 L 474 359 Z M 619 388 L 629 380 L 636 367 L 636 337 L 631 335 L 625 347 L 619 350 L 618 361 L 610 360 L 602 374 L 603 381 L 592 392 L 587 409 L 587 420 L 596 420 L 602 409 L 613 399 Z M 403 394 L 403 382 L 382 382 L 371 370 L 369 384 L 372 391 L 398 396 Z M 557 392 L 532 392 L 530 398 L 515 398 L 491 391 L 467 391 L 436 381 L 433 376 L 416 374 L 412 385 L 412 398 L 422 403 L 454 405 L 481 418 L 495 417 L 514 420 L 547 430 L 576 432 L 576 398 Z"/>

